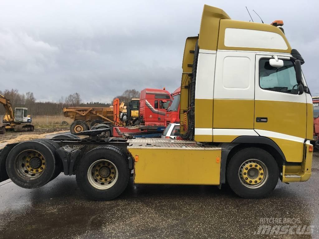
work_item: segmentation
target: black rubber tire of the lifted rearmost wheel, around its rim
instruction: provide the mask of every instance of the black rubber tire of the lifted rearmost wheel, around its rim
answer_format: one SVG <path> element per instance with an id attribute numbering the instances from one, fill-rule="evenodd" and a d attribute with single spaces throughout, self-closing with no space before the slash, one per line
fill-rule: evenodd
<path id="1" fill-rule="evenodd" d="M 24 155 L 34 151 L 39 152 L 45 159 L 45 169 L 41 174 L 36 175 L 36 177 L 32 176 L 30 172 L 23 174 L 23 169 L 20 170 L 20 167 L 17 166 L 19 165 L 19 160 L 22 160 Z M 52 150 L 52 146 L 49 146 L 47 142 L 39 140 L 19 143 L 12 148 L 6 161 L 6 169 L 10 179 L 13 183 L 23 188 L 38 188 L 47 184 L 54 177 L 56 167 L 55 153 Z"/>

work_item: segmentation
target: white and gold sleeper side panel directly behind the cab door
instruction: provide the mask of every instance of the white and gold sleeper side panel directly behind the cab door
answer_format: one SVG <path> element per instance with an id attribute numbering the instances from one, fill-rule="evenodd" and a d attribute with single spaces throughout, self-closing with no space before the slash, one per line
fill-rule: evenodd
<path id="1" fill-rule="evenodd" d="M 213 109 L 207 109 L 213 110 L 213 142 L 231 142 L 240 135 L 256 134 L 254 69 L 254 52 L 217 52 Z M 203 77 L 200 71 L 198 77 Z M 204 114 L 201 117 L 209 119 Z"/>

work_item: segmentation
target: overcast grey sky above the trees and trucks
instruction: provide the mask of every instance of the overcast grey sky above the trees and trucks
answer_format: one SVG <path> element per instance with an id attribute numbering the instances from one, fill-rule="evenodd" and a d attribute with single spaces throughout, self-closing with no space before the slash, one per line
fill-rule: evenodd
<path id="1" fill-rule="evenodd" d="M 235 20 L 282 19 L 319 95 L 317 1 L 5 1 L 0 0 L 0 89 L 37 100 L 80 93 L 111 102 L 126 89 L 180 86 L 185 39 L 196 36 L 204 4 Z"/>

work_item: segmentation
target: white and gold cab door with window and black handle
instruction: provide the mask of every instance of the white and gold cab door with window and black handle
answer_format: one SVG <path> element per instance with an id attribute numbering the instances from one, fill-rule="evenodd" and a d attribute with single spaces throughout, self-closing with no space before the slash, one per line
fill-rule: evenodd
<path id="1" fill-rule="evenodd" d="M 283 60 L 282 67 L 272 67 L 270 59 Z M 306 138 L 306 93 L 298 95 L 294 62 L 290 57 L 256 55 L 254 129 L 271 138 L 286 160 L 301 162 Z"/>

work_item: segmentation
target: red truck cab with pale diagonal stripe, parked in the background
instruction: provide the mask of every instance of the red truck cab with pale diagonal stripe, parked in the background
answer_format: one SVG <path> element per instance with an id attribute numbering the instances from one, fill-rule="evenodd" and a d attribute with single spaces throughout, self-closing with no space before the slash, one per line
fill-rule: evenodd
<path id="1" fill-rule="evenodd" d="M 139 122 L 145 125 L 164 125 L 171 94 L 165 90 L 146 88 L 140 94 Z"/>

